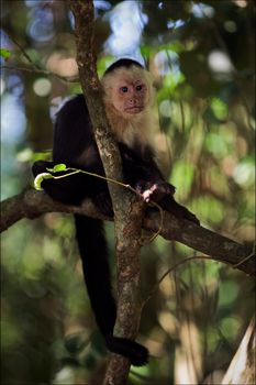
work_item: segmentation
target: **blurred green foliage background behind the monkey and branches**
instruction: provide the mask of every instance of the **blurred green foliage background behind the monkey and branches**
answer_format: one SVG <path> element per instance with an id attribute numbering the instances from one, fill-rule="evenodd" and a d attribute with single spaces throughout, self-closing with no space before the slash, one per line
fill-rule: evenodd
<path id="1" fill-rule="evenodd" d="M 118 43 L 107 43 L 114 23 L 121 23 L 123 3 L 96 1 L 99 75 L 114 56 L 145 59 L 155 77 L 160 125 L 170 144 L 167 168 L 177 199 L 203 226 L 253 248 L 255 2 L 125 1 L 141 15 L 140 44 L 130 51 L 119 47 L 118 54 Z M 132 18 L 126 19 L 126 28 L 132 28 Z M 2 1 L 1 21 L 1 64 L 12 67 L 2 69 L 1 80 L 5 198 L 32 183 L 31 163 L 47 157 L 52 147 L 49 114 L 56 98 L 79 92 L 80 86 L 40 72 L 76 74 L 67 2 Z M 127 30 L 125 35 L 133 33 Z M 107 233 L 114 275 L 112 224 Z M 163 239 L 144 248 L 145 292 L 170 266 L 194 255 Z M 107 352 L 84 286 L 73 219 L 48 213 L 16 223 L 2 237 L 1 266 L 2 384 L 101 383 Z M 130 383 L 175 383 L 185 320 L 199 336 L 192 340 L 199 344 L 199 381 L 224 371 L 253 314 L 253 285 L 238 271 L 200 258 L 171 272 L 145 306 L 140 338 L 152 359 L 149 365 L 133 369 Z"/>

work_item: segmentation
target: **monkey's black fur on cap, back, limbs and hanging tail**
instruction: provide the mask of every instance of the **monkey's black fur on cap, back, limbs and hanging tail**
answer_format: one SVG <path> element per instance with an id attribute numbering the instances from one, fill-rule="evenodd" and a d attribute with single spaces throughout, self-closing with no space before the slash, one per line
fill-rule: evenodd
<path id="1" fill-rule="evenodd" d="M 122 59 L 112 65 L 109 72 L 120 66 L 129 67 L 130 65 L 141 66 L 134 64 L 133 61 Z M 198 222 L 192 213 L 174 200 L 175 188 L 164 180 L 149 147 L 130 148 L 127 145 L 119 143 L 119 148 L 125 183 L 140 193 L 154 188 L 151 200 L 158 201 L 164 209 L 177 216 Z M 32 167 L 33 174 L 36 176 L 44 173 L 47 167 L 52 168 L 58 163 L 104 175 L 82 95 L 69 100 L 58 112 L 55 124 L 53 162 L 35 162 Z M 75 174 L 57 180 L 45 179 L 42 186 L 53 199 L 67 205 L 79 205 L 85 197 L 89 197 L 103 213 L 112 215 L 109 190 L 104 180 L 85 174 Z M 91 307 L 97 324 L 105 339 L 105 344 L 110 351 L 130 359 L 132 364 L 143 365 L 148 360 L 146 348 L 134 341 L 113 336 L 116 307 L 111 290 L 103 224 L 100 220 L 78 215 L 75 216 L 75 224 Z"/>

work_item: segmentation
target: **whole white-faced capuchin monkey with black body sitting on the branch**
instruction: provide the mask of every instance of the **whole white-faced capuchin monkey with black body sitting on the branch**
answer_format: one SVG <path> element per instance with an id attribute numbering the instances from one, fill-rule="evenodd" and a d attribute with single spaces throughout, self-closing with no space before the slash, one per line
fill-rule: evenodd
<path id="1" fill-rule="evenodd" d="M 140 63 L 122 58 L 105 70 L 101 82 L 105 112 L 121 154 L 124 183 L 141 194 L 144 201 L 157 202 L 176 217 L 199 223 L 193 213 L 175 201 L 175 187 L 164 179 L 155 160 L 151 134 L 156 123 L 149 73 Z M 67 101 L 57 113 L 53 162 L 35 162 L 33 174 L 48 172 L 47 168 L 59 163 L 104 176 L 82 95 Z M 59 173 L 63 174 L 65 172 Z M 108 185 L 102 179 L 80 173 L 60 179 L 45 179 L 42 187 L 53 199 L 67 205 L 80 205 L 85 198 L 91 198 L 102 213 L 113 216 Z M 102 221 L 76 215 L 75 224 L 86 286 L 107 348 L 127 358 L 133 365 L 146 364 L 146 348 L 113 336 L 116 306 L 111 290 Z"/>

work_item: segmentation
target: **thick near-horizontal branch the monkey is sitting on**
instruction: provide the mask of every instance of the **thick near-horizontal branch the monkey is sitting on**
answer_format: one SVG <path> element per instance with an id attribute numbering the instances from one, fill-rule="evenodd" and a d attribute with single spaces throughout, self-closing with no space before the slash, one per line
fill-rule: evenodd
<path id="1" fill-rule="evenodd" d="M 111 220 L 111 218 L 103 217 L 89 199 L 85 200 L 80 207 L 65 206 L 52 200 L 44 191 L 27 189 L 2 201 L 0 231 L 7 230 L 23 218 L 33 219 L 45 212 L 82 213 L 92 218 Z M 166 240 L 181 242 L 209 255 L 212 260 L 226 263 L 248 275 L 255 274 L 256 260 L 251 248 L 203 227 L 177 219 L 168 212 L 164 212 L 163 223 L 160 222 L 159 212 L 148 210 L 143 228 L 155 233 L 162 224 L 159 234 Z"/>

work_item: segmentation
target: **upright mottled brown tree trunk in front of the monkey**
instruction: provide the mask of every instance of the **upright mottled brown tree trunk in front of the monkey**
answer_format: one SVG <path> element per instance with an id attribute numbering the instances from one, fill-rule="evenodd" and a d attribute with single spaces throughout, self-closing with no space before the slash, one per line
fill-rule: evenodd
<path id="1" fill-rule="evenodd" d="M 114 142 L 102 101 L 102 90 L 96 70 L 93 53 L 93 2 L 70 0 L 75 16 L 77 64 L 82 91 L 92 122 L 96 142 L 108 178 L 122 182 L 119 148 Z M 112 198 L 116 240 L 118 317 L 114 334 L 135 339 L 138 330 L 140 250 L 144 205 L 120 186 L 109 184 Z M 135 199 L 134 199 L 135 198 Z M 134 298 L 137 298 L 135 301 Z M 112 356 L 104 384 L 122 384 L 127 380 L 130 364 L 122 356 Z"/>

